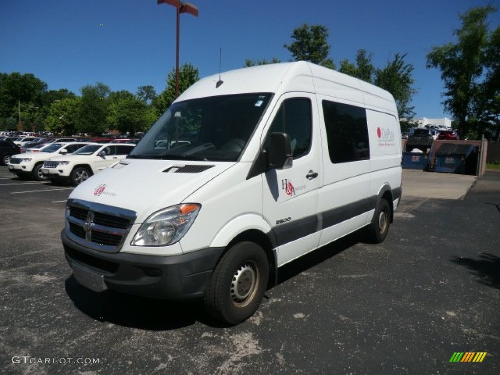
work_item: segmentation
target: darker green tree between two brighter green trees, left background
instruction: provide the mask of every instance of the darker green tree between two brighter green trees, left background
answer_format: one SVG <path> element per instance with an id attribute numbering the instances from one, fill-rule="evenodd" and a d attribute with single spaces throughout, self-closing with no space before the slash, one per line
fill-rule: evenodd
<path id="1" fill-rule="evenodd" d="M 81 98 L 76 117 L 76 130 L 82 133 L 100 135 L 107 129 L 106 115 L 109 86 L 102 82 L 85 85 L 81 89 Z"/>

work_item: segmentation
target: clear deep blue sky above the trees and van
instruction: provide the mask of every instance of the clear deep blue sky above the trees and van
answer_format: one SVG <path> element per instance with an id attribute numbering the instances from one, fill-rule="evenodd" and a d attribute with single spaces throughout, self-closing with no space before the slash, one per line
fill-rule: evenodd
<path id="1" fill-rule="evenodd" d="M 199 17 L 181 14 L 180 63 L 200 77 L 240 68 L 245 58 L 291 58 L 283 44 L 302 23 L 328 28 L 330 58 L 354 61 L 358 49 L 383 67 L 396 52 L 414 66 L 417 117 L 444 117 L 439 71 L 425 68 L 434 45 L 453 40 L 458 14 L 500 0 L 189 0 Z M 489 18 L 500 23 L 500 10 Z M 175 8 L 156 0 L 1 0 L 0 71 L 33 73 L 49 89 L 80 94 L 103 82 L 136 92 L 151 84 L 159 93 L 175 66 Z"/>

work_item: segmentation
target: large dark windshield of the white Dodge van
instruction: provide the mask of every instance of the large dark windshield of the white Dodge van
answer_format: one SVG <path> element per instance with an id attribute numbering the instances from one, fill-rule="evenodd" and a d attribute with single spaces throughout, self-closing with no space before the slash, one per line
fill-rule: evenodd
<path id="1" fill-rule="evenodd" d="M 174 103 L 129 157 L 236 161 L 270 97 L 270 93 L 249 93 Z"/>

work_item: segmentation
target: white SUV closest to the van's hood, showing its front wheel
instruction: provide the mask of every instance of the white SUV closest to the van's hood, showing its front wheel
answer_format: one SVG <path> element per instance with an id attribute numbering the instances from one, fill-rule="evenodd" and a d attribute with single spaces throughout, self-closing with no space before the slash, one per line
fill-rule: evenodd
<path id="1" fill-rule="evenodd" d="M 43 176 L 54 180 L 69 180 L 79 185 L 92 174 L 126 157 L 135 144 L 88 144 L 71 155 L 56 156 L 43 163 Z"/>

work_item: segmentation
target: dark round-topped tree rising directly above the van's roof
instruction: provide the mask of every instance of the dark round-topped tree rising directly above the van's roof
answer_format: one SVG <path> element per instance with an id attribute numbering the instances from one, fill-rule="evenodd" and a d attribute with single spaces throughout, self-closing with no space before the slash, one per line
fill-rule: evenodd
<path id="1" fill-rule="evenodd" d="M 326 40 L 328 38 L 326 26 L 303 23 L 293 29 L 291 38 L 293 41 L 284 44 L 283 47 L 290 51 L 294 61 L 310 61 L 330 69 L 335 68 L 333 60 L 328 58 L 330 46 Z"/>

